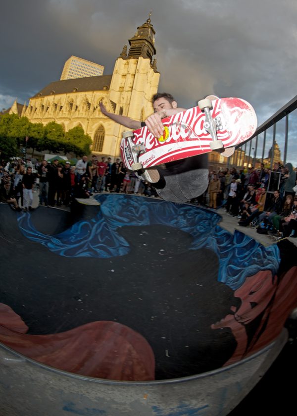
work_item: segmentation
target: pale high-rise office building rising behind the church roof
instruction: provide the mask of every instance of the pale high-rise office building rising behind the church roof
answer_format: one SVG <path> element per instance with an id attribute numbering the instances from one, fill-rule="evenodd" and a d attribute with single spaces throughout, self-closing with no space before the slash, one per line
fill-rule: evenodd
<path id="1" fill-rule="evenodd" d="M 78 58 L 77 56 L 70 56 L 65 62 L 60 80 L 97 77 L 102 75 L 103 71 L 103 65 Z"/>

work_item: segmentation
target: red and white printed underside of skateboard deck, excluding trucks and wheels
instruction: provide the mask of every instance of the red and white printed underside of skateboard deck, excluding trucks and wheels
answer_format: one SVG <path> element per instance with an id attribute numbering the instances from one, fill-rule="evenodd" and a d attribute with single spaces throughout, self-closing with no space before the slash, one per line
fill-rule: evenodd
<path id="1" fill-rule="evenodd" d="M 217 138 L 225 148 L 244 143 L 257 127 L 254 109 L 239 98 L 223 98 L 212 101 L 212 118 L 219 123 Z M 150 167 L 185 157 L 211 152 L 211 136 L 206 131 L 205 113 L 199 107 L 167 117 L 162 120 L 165 130 L 160 138 L 149 133 L 147 127 L 134 132 L 134 144 L 144 143 L 146 152 L 139 157 L 143 166 Z M 125 152 L 127 139 L 121 141 L 121 156 L 128 168 L 133 164 L 131 152 Z M 129 146 L 128 146 L 129 149 Z"/>

